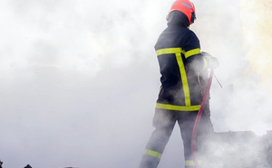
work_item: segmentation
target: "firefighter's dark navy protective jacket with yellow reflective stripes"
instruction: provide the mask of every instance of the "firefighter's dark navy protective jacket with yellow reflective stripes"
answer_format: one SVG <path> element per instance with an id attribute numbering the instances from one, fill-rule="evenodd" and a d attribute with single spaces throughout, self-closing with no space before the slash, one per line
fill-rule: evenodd
<path id="1" fill-rule="evenodd" d="M 161 74 L 157 108 L 199 110 L 203 88 L 201 74 L 207 78 L 209 58 L 201 54 L 199 39 L 188 26 L 185 14 L 172 13 L 168 27 L 155 45 Z"/>

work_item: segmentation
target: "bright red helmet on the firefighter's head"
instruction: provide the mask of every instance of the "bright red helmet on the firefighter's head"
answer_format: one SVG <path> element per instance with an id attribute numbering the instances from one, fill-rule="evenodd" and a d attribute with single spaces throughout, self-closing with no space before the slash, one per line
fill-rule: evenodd
<path id="1" fill-rule="evenodd" d="M 188 17 L 189 24 L 194 23 L 196 19 L 195 5 L 189 0 L 176 0 L 170 8 L 170 12 L 172 11 L 180 11 L 185 14 Z"/>

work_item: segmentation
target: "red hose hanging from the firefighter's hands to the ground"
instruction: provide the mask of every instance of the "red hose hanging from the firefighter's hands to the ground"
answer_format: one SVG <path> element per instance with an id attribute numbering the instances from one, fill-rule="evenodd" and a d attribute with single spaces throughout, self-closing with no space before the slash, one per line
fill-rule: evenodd
<path id="1" fill-rule="evenodd" d="M 204 94 L 204 97 L 202 99 L 202 102 L 201 102 L 201 105 L 200 105 L 200 108 L 199 108 L 199 113 L 198 113 L 198 116 L 196 118 L 195 125 L 193 127 L 192 137 L 191 137 L 191 154 L 192 154 L 194 163 L 196 165 L 196 168 L 199 168 L 199 163 L 198 163 L 197 155 L 196 155 L 197 132 L 198 132 L 198 127 L 199 127 L 199 121 L 200 121 L 203 109 L 205 107 L 206 101 L 207 101 L 208 96 L 209 96 L 209 89 L 210 89 L 212 77 L 213 77 L 213 70 L 211 69 L 210 72 L 209 72 L 208 85 L 207 85 L 207 88 L 205 90 L 205 94 Z"/>

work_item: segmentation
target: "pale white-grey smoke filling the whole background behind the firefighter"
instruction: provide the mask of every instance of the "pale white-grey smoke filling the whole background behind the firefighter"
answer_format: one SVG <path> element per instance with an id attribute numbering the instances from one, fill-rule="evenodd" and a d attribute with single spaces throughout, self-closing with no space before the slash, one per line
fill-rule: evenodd
<path id="1" fill-rule="evenodd" d="M 271 129 L 271 3 L 193 1 L 202 51 L 219 59 L 215 130 Z M 3 167 L 138 167 L 160 88 L 153 45 L 170 1 L 1 1 Z M 257 61 L 256 61 L 257 60 Z M 269 90 L 269 92 L 267 91 Z M 176 127 L 160 167 L 180 167 Z"/>

